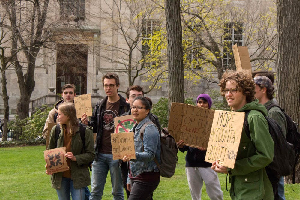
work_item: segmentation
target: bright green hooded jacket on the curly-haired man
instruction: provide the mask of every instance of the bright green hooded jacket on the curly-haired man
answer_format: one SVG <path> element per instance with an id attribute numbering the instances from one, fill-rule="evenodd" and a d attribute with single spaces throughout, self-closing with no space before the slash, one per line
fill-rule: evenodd
<path id="1" fill-rule="evenodd" d="M 247 103 L 237 112 L 251 110 L 248 115 L 251 139 L 243 127 L 234 169 L 229 169 L 231 199 L 274 199 L 265 167 L 274 157 L 274 142 L 263 115 L 267 109 L 258 100 Z M 263 115 L 262 115 L 263 113 Z"/>

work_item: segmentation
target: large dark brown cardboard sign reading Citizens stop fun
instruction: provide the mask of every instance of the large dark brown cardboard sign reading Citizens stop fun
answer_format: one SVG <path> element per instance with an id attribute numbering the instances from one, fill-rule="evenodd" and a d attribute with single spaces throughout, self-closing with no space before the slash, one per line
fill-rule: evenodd
<path id="1" fill-rule="evenodd" d="M 168 130 L 176 142 L 207 148 L 213 118 L 214 110 L 173 102 Z"/>

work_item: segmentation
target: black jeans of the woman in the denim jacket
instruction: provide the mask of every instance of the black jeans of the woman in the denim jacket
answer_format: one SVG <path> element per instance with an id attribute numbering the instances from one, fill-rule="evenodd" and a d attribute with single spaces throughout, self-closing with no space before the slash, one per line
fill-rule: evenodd
<path id="1" fill-rule="evenodd" d="M 128 200 L 152 199 L 154 190 L 161 180 L 144 182 L 141 180 L 131 181 L 131 193 Z"/>

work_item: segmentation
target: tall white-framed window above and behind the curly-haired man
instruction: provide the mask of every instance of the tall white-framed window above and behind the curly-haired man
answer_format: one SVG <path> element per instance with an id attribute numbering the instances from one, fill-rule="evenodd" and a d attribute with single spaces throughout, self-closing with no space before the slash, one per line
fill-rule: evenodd
<path id="1" fill-rule="evenodd" d="M 231 68 L 234 64 L 232 46 L 243 46 L 243 24 L 228 22 L 224 24 L 223 40 L 223 69 Z"/>

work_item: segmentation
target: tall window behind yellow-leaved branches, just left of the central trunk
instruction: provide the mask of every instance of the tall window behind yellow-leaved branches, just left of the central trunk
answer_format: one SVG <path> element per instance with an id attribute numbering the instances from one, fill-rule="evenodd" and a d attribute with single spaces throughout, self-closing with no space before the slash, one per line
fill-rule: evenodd
<path id="1" fill-rule="evenodd" d="M 154 31 L 158 31 L 161 28 L 161 22 L 159 20 L 143 20 L 142 29 L 142 59 L 144 60 L 144 65 L 147 68 L 152 68 L 156 66 L 154 61 L 151 61 L 151 37 Z"/>

